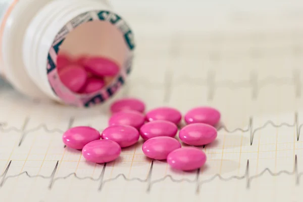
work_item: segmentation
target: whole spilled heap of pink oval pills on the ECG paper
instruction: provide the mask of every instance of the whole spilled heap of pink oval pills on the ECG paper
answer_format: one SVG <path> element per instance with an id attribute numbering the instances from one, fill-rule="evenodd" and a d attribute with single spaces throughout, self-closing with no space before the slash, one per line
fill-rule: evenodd
<path id="1" fill-rule="evenodd" d="M 111 106 L 109 126 L 101 134 L 91 127 L 74 127 L 64 133 L 63 142 L 82 149 L 87 161 L 107 163 L 117 159 L 121 148 L 134 145 L 141 136 L 143 154 L 150 159 L 167 160 L 174 169 L 191 171 L 206 163 L 206 154 L 195 146 L 210 144 L 217 138 L 215 126 L 221 117 L 218 110 L 196 107 L 185 114 L 186 126 L 178 135 L 189 146 L 183 147 L 175 138 L 182 120 L 177 109 L 161 107 L 145 114 L 144 111 L 145 104 L 139 99 L 117 100 Z"/>

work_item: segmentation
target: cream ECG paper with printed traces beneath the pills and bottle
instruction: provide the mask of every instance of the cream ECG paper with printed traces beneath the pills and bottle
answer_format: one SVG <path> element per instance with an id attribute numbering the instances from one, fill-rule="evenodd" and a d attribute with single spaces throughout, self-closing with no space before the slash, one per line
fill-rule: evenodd
<path id="1" fill-rule="evenodd" d="M 145 16 L 143 26 L 144 16 L 125 14 L 137 29 L 137 50 L 115 98 L 183 114 L 219 109 L 218 138 L 200 147 L 206 165 L 174 171 L 146 159 L 141 140 L 114 162 L 86 162 L 64 147 L 62 133 L 80 125 L 102 131 L 110 102 L 76 109 L 31 100 L 1 81 L 0 201 L 302 201 L 303 17 L 285 30 L 211 34 L 188 24 L 165 29 L 164 16 L 162 24 Z"/>

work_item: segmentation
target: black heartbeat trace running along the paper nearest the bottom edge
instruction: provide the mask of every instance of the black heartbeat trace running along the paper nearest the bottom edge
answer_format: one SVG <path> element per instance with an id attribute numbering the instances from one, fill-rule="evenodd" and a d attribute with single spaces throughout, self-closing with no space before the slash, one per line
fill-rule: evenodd
<path id="1" fill-rule="evenodd" d="M 99 177 L 97 177 L 97 178 L 93 178 L 93 177 L 89 177 L 89 176 L 79 177 L 79 176 L 77 176 L 76 173 L 70 173 L 70 174 L 68 174 L 64 177 L 55 177 L 56 171 L 58 169 L 59 161 L 57 161 L 51 175 L 49 175 L 49 176 L 30 175 L 27 171 L 19 173 L 17 175 L 7 176 L 7 173 L 9 171 L 9 169 L 11 168 L 12 164 L 13 164 L 13 161 L 10 161 L 10 163 L 6 167 L 4 173 L 0 176 L 1 177 L 0 188 L 5 185 L 5 182 L 9 178 L 15 178 L 15 177 L 19 177 L 19 176 L 22 176 L 22 175 L 26 175 L 29 178 L 38 178 L 38 177 L 40 177 L 40 178 L 43 178 L 43 179 L 48 179 L 49 180 L 48 189 L 52 189 L 53 186 L 55 185 L 56 181 L 64 180 L 64 179 L 67 179 L 67 178 L 73 176 L 78 180 L 89 179 L 91 181 L 99 181 L 99 185 L 98 185 L 98 188 L 97 188 L 98 191 L 102 191 L 102 188 L 106 185 L 106 183 L 108 183 L 110 181 L 115 181 L 115 180 L 118 180 L 119 178 L 121 178 L 121 179 L 123 179 L 127 182 L 138 181 L 138 182 L 141 182 L 141 183 L 146 183 L 146 192 L 149 193 L 151 191 L 151 188 L 152 188 L 153 185 L 155 185 L 157 183 L 161 183 L 161 182 L 165 181 L 166 179 L 169 179 L 174 183 L 182 183 L 182 182 L 195 183 L 195 190 L 194 191 L 195 191 L 196 194 L 199 194 L 201 185 L 210 183 L 210 182 L 214 181 L 216 178 L 218 178 L 221 182 L 228 182 L 228 181 L 231 181 L 231 180 L 245 180 L 246 189 L 249 190 L 250 187 L 251 187 L 252 181 L 254 179 L 262 177 L 265 173 L 268 173 L 272 177 L 277 177 L 277 176 L 280 176 L 282 174 L 289 175 L 289 176 L 294 176 L 295 177 L 295 182 L 294 183 L 295 183 L 296 186 L 299 185 L 300 178 L 303 175 L 303 172 L 298 172 L 297 156 L 296 155 L 295 155 L 294 166 L 293 166 L 292 171 L 281 170 L 281 171 L 275 173 L 275 172 L 271 171 L 269 168 L 265 168 L 259 174 L 249 175 L 249 160 L 247 160 L 246 167 L 245 167 L 245 173 L 243 175 L 240 175 L 240 176 L 232 175 L 230 177 L 223 177 L 220 174 L 216 174 L 216 175 L 213 175 L 212 177 L 210 177 L 209 179 L 205 179 L 205 180 L 199 180 L 199 177 L 200 177 L 201 173 L 203 174 L 203 171 L 200 171 L 200 169 L 197 169 L 196 177 L 195 177 L 194 180 L 190 180 L 190 179 L 187 179 L 187 178 L 174 179 L 174 177 L 172 175 L 165 175 L 164 177 L 162 177 L 160 179 L 152 180 L 154 161 L 151 161 L 149 169 L 148 169 L 149 171 L 148 171 L 147 177 L 145 179 L 141 179 L 141 178 L 137 178 L 137 177 L 128 178 L 122 173 L 118 174 L 114 178 L 104 179 L 107 164 L 103 165 L 102 172 L 100 173 Z"/>

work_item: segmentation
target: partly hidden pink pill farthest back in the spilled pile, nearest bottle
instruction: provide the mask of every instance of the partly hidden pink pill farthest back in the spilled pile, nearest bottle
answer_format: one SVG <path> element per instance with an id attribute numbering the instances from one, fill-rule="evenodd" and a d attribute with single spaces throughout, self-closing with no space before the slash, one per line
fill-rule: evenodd
<path id="1" fill-rule="evenodd" d="M 145 104 L 136 98 L 123 98 L 119 99 L 111 105 L 111 112 L 116 113 L 125 110 L 133 110 L 143 113 Z"/>

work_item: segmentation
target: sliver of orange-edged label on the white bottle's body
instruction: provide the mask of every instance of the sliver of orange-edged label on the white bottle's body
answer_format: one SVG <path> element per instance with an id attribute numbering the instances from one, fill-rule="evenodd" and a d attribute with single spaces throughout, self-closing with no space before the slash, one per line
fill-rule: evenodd
<path id="1" fill-rule="evenodd" d="M 0 76 L 5 78 L 4 64 L 2 60 L 2 40 L 5 24 L 19 0 L 0 0 Z"/>

